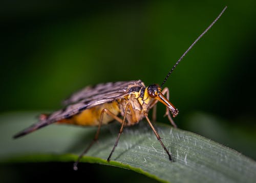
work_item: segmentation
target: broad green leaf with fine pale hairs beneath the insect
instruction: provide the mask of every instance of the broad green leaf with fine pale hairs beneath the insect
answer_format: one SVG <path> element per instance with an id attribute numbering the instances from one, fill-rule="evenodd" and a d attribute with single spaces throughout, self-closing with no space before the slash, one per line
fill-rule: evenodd
<path id="1" fill-rule="evenodd" d="M 0 162 L 76 161 L 97 129 L 53 124 L 13 140 L 15 133 L 36 122 L 35 116 L 35 113 L 0 116 Z M 81 162 L 131 169 L 163 182 L 255 182 L 256 163 L 246 156 L 194 133 L 161 123 L 154 125 L 175 162 L 168 160 L 145 121 L 125 128 L 110 163 L 106 159 L 120 125 L 102 126 L 98 143 Z"/>

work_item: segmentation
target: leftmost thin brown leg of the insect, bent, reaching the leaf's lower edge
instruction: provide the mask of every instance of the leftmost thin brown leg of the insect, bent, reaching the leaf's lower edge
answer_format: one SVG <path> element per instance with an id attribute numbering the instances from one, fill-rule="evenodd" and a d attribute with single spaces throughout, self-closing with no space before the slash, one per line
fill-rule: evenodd
<path id="1" fill-rule="evenodd" d="M 98 125 L 97 132 L 96 132 L 96 134 L 95 134 L 95 136 L 94 136 L 94 139 L 93 139 L 93 141 L 91 142 L 91 144 L 79 155 L 77 161 L 74 163 L 74 166 L 73 166 L 73 169 L 74 169 L 74 170 L 77 170 L 77 169 L 78 169 L 78 168 L 77 168 L 77 164 L 79 163 L 79 161 L 80 161 L 80 159 L 82 158 L 82 156 L 83 156 L 84 154 L 86 154 L 87 151 L 92 147 L 92 145 L 98 140 L 99 132 L 100 132 L 100 127 L 101 127 L 101 124 L 102 124 L 102 120 L 103 120 L 103 115 L 104 115 L 104 113 L 106 113 L 106 114 L 112 116 L 115 120 L 117 120 L 117 121 L 119 121 L 119 122 L 122 122 L 122 121 L 123 121 L 121 118 L 117 117 L 115 114 L 113 114 L 112 112 L 110 112 L 108 109 L 103 109 L 103 110 L 101 111 L 101 114 L 100 114 L 99 125 Z"/>

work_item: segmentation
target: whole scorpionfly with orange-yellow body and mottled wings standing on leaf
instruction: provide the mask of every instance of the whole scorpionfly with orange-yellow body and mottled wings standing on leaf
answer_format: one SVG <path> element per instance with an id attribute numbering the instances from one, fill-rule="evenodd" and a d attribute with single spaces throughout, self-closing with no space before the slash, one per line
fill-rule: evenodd
<path id="1" fill-rule="evenodd" d="M 180 57 L 176 64 L 170 69 L 166 75 L 164 81 L 159 86 L 153 84 L 145 86 L 140 80 L 128 81 L 128 82 L 116 82 L 98 84 L 94 87 L 86 87 L 66 99 L 63 103 L 66 108 L 46 115 L 41 114 L 39 122 L 28 127 L 22 132 L 16 134 L 14 138 L 18 138 L 27 135 L 41 127 L 47 126 L 52 123 L 67 123 L 82 126 L 98 126 L 97 132 L 91 144 L 83 151 L 78 160 L 74 163 L 74 170 L 77 170 L 77 164 L 84 153 L 86 153 L 90 147 L 98 140 L 101 125 L 108 124 L 109 122 L 116 120 L 121 123 L 121 127 L 116 138 L 116 142 L 110 155 L 107 159 L 109 162 L 111 156 L 118 144 L 120 135 L 123 132 L 124 126 L 131 126 L 137 124 L 143 118 L 146 119 L 153 132 L 155 133 L 158 141 L 162 145 L 163 149 L 168 155 L 170 161 L 172 156 L 164 146 L 163 142 L 156 129 L 154 128 L 151 120 L 148 118 L 148 111 L 154 108 L 158 101 L 166 106 L 165 116 L 168 117 L 170 123 L 174 127 L 172 116 L 178 115 L 178 109 L 169 101 L 169 90 L 163 88 L 163 85 L 167 81 L 170 73 L 174 71 L 176 66 L 180 63 L 183 57 L 188 51 L 198 42 L 198 40 L 215 24 L 215 22 L 221 17 L 227 7 L 225 7 L 218 17 L 209 25 L 209 27 L 189 46 L 185 53 Z M 155 110 L 154 110 L 155 111 Z M 121 118 L 122 117 L 122 118 Z M 156 115 L 153 112 L 153 120 Z"/>

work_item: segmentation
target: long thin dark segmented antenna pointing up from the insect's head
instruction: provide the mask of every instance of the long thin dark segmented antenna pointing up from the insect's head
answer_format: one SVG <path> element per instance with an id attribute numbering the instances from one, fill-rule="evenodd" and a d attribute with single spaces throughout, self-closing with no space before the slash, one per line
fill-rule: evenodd
<path id="1" fill-rule="evenodd" d="M 172 67 L 172 69 L 170 69 L 170 71 L 168 72 L 168 74 L 166 75 L 163 83 L 161 84 L 160 88 L 163 87 L 164 83 L 167 81 L 170 73 L 172 73 L 174 71 L 174 69 L 176 68 L 176 66 L 180 63 L 180 61 L 185 57 L 185 55 L 188 53 L 188 51 L 201 39 L 201 37 L 203 37 L 203 35 L 205 33 L 207 33 L 207 31 L 209 31 L 209 29 L 212 27 L 212 25 L 214 25 L 216 23 L 216 21 L 221 17 L 221 15 L 224 13 L 224 11 L 227 9 L 227 7 L 225 7 L 221 13 L 219 14 L 219 16 L 209 25 L 208 28 L 206 28 L 206 30 L 189 46 L 189 48 L 185 51 L 185 53 L 180 57 L 180 59 L 176 62 L 176 64 Z"/>

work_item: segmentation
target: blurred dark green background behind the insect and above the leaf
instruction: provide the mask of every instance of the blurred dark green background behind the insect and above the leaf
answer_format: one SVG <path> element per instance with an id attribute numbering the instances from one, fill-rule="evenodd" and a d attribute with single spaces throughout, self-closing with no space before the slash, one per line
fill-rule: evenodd
<path id="1" fill-rule="evenodd" d="M 180 128 L 255 160 L 254 1 L 2 2 L 0 112 L 53 111 L 72 92 L 98 83 L 161 84 L 224 6 L 165 87 Z M 164 110 L 159 104 L 160 122 L 168 122 Z"/>

